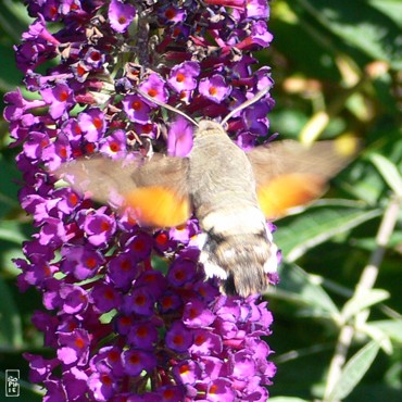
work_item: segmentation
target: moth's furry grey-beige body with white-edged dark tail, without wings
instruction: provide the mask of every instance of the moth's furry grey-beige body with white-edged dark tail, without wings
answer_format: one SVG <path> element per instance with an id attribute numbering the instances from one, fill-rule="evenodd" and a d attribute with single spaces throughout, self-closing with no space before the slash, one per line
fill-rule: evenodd
<path id="1" fill-rule="evenodd" d="M 203 231 L 205 275 L 223 279 L 229 294 L 263 292 L 267 273 L 276 271 L 276 248 L 259 206 L 251 163 L 215 122 L 199 123 L 188 188 Z"/>

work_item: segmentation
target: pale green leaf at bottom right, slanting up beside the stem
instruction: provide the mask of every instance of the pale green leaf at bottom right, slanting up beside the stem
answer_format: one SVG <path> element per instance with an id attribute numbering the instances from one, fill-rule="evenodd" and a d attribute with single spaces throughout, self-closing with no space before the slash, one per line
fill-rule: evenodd
<path id="1" fill-rule="evenodd" d="M 334 386 L 328 402 L 340 401 L 352 392 L 376 359 L 378 350 L 378 342 L 370 341 L 349 360 Z"/>

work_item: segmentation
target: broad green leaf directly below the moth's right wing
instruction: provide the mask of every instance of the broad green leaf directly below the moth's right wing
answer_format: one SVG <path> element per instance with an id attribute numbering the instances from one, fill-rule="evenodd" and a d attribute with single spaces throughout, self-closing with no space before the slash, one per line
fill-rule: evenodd
<path id="1" fill-rule="evenodd" d="M 293 262 L 307 250 L 381 214 L 380 210 L 364 210 L 356 202 L 322 200 L 303 214 L 278 222 L 274 240 L 285 257 Z M 284 224 L 282 224 L 284 223 Z"/>

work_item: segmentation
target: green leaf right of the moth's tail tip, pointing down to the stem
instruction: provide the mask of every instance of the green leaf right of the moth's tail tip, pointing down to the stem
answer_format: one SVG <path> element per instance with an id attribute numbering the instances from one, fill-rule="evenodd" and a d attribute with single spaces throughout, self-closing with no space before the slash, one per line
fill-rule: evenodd
<path id="1" fill-rule="evenodd" d="M 303 305 L 303 315 L 334 317 L 339 314 L 323 287 L 298 265 L 281 264 L 279 276 L 280 282 L 268 289 L 271 296 Z"/>

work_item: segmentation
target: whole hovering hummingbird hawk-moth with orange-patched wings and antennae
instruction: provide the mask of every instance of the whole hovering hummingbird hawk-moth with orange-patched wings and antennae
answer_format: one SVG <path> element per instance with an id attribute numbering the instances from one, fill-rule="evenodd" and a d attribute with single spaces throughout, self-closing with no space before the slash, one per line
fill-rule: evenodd
<path id="1" fill-rule="evenodd" d="M 265 93 L 260 91 L 221 124 L 189 118 L 198 127 L 187 158 L 154 153 L 148 160 L 115 161 L 98 155 L 66 163 L 55 174 L 67 174 L 74 189 L 89 191 L 102 203 L 112 193 L 120 194 L 142 226 L 174 227 L 193 213 L 202 230 L 200 262 L 206 277 L 218 277 L 228 294 L 264 292 L 268 274 L 277 268 L 277 248 L 266 218 L 321 197 L 329 178 L 350 159 L 337 151 L 335 141 L 311 148 L 273 141 L 249 152 L 237 147 L 225 122 Z"/>

